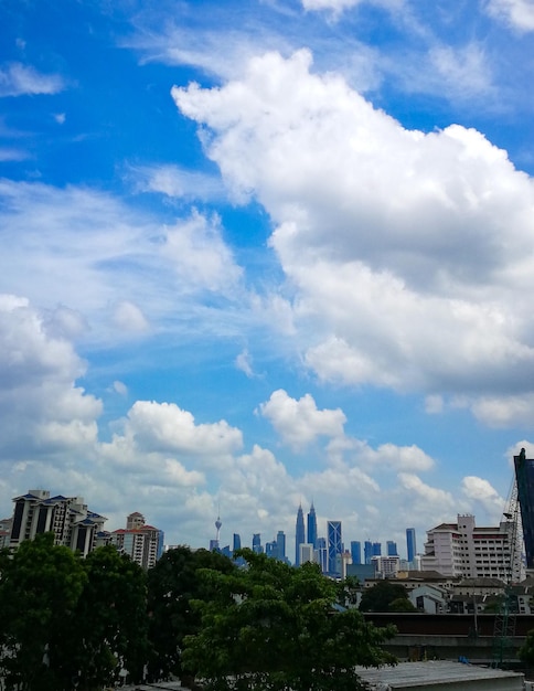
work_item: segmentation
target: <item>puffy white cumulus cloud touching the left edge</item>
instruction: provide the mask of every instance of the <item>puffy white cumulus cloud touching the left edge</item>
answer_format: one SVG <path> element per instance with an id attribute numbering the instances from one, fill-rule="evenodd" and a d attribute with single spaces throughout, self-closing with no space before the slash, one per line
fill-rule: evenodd
<path id="1" fill-rule="evenodd" d="M 76 380 L 86 365 L 25 298 L 0 295 L 0 446 L 3 458 L 45 459 L 96 442 L 100 401 Z"/>

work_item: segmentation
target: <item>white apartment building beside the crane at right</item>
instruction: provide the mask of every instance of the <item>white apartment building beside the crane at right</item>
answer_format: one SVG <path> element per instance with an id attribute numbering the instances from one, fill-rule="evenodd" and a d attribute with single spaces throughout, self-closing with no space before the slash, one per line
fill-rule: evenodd
<path id="1" fill-rule="evenodd" d="M 478 528 L 474 515 L 458 514 L 457 523 L 441 523 L 427 531 L 421 570 L 437 571 L 444 576 L 466 578 L 501 578 L 511 576 L 511 542 L 513 524 L 503 521 L 499 527 Z M 520 545 L 516 545 L 516 553 Z M 517 556 L 514 555 L 515 564 Z M 514 580 L 522 574 L 514 574 Z"/>

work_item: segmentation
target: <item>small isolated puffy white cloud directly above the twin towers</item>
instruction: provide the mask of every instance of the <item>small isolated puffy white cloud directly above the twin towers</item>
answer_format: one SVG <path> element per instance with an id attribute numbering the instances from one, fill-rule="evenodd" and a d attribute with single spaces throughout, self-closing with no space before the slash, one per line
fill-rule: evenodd
<path id="1" fill-rule="evenodd" d="M 343 411 L 320 411 L 310 394 L 296 400 L 279 389 L 261 403 L 259 411 L 295 450 L 303 449 L 319 436 L 342 437 L 344 434 L 346 417 Z"/>

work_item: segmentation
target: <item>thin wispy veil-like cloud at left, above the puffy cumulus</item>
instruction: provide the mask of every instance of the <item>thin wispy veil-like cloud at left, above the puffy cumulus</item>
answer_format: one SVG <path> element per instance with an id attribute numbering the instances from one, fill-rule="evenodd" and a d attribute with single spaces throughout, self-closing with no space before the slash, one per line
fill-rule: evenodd
<path id="1" fill-rule="evenodd" d="M 162 322 L 228 331 L 236 317 L 225 313 L 223 323 L 213 299 L 202 316 L 204 296 L 246 297 L 216 216 L 193 212 L 164 225 L 88 188 L 1 180 L 0 224 L 0 289 L 52 307 L 68 286 L 68 308 L 92 327 L 87 338 L 117 341 Z"/>

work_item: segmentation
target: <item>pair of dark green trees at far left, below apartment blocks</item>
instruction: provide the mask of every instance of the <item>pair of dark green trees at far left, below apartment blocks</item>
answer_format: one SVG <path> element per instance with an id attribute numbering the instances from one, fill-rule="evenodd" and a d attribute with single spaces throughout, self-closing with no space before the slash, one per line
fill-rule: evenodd
<path id="1" fill-rule="evenodd" d="M 113 546 L 84 560 L 53 533 L 0 554 L 0 677 L 7 691 L 100 689 L 147 659 L 146 574 Z"/>

